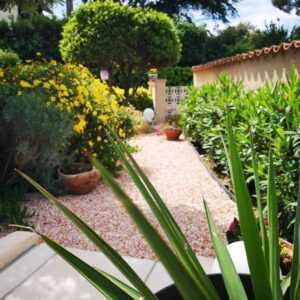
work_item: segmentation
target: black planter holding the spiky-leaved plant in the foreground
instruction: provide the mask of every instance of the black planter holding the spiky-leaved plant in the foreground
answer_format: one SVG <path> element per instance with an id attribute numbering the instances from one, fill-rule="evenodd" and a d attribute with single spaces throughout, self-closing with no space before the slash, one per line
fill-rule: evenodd
<path id="1" fill-rule="evenodd" d="M 211 274 L 211 275 L 208 275 L 208 277 L 211 280 L 212 284 L 215 286 L 216 291 L 220 297 L 220 300 L 229 300 L 222 275 L 221 274 Z M 241 278 L 241 281 L 245 288 L 248 299 L 249 300 L 255 299 L 253 290 L 252 290 L 250 276 L 240 274 L 240 278 Z M 170 286 L 164 288 L 163 290 L 159 291 L 156 294 L 156 296 L 159 300 L 183 300 L 183 298 L 180 296 L 175 285 L 170 285 Z M 202 300 L 202 298 L 199 297 L 199 300 Z"/>

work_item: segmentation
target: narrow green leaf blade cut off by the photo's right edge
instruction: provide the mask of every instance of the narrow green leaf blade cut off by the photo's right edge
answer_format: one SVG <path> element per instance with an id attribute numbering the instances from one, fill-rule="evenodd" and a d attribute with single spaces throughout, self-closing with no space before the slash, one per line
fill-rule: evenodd
<path id="1" fill-rule="evenodd" d="M 300 299 L 300 179 L 298 180 L 298 199 L 296 221 L 294 224 L 294 253 L 291 271 L 290 299 Z"/>

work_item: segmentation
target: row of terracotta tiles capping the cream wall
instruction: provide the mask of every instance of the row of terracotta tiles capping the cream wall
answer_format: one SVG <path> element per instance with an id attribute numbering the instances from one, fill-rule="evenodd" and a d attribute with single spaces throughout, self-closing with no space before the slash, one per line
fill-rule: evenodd
<path id="1" fill-rule="evenodd" d="M 300 48 L 300 40 L 295 40 L 290 43 L 281 43 L 280 45 L 273 45 L 271 47 L 264 47 L 262 49 L 256 49 L 253 51 L 249 51 L 246 53 L 240 53 L 234 56 L 230 57 L 225 57 L 225 58 L 220 58 L 217 60 L 210 61 L 206 64 L 198 65 L 198 66 L 193 66 L 192 70 L 193 71 L 201 71 L 201 70 L 207 70 L 210 68 L 213 68 L 215 66 L 222 66 L 226 64 L 232 64 L 236 62 L 240 62 L 243 60 L 250 60 L 250 59 L 255 59 L 260 56 L 265 56 L 269 54 L 276 54 L 282 51 L 288 51 L 290 49 L 298 49 Z"/>

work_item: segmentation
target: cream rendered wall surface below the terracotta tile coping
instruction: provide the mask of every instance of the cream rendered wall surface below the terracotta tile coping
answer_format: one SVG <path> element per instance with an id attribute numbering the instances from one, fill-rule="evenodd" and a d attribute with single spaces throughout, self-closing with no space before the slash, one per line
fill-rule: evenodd
<path id="1" fill-rule="evenodd" d="M 201 87 L 205 83 L 214 82 L 220 73 L 226 72 L 235 80 L 243 80 L 246 88 L 257 89 L 266 81 L 274 84 L 278 80 L 286 80 L 293 65 L 300 73 L 299 48 L 206 70 L 193 70 L 194 86 Z"/>

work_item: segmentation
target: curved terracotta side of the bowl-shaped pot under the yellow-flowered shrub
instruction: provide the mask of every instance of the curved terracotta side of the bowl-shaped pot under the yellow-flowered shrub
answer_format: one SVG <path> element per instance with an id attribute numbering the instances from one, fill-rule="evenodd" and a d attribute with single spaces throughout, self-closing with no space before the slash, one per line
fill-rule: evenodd
<path id="1" fill-rule="evenodd" d="M 58 170 L 58 174 L 69 192 L 81 195 L 93 191 L 100 179 L 100 173 L 94 167 L 78 174 L 64 174 L 62 170 Z"/>

